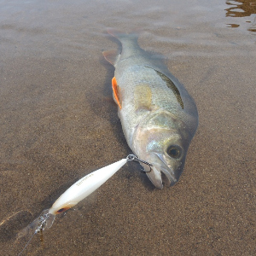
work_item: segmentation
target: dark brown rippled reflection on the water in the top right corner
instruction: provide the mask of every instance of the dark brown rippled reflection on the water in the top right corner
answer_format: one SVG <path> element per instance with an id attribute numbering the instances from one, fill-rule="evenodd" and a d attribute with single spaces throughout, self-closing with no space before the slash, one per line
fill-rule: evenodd
<path id="1" fill-rule="evenodd" d="M 226 11 L 226 17 L 253 17 L 254 20 L 246 20 L 247 23 L 252 23 L 251 26 L 247 28 L 250 32 L 256 32 L 256 0 L 240 0 L 240 1 L 226 1 L 229 6 Z M 238 27 L 240 25 L 230 23 L 227 24 L 229 27 Z"/>

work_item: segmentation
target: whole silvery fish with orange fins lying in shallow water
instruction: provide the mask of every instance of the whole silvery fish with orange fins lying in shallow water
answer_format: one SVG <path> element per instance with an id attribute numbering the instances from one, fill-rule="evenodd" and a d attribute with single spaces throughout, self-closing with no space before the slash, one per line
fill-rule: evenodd
<path id="1" fill-rule="evenodd" d="M 149 180 L 158 189 L 179 180 L 189 143 L 198 126 L 198 112 L 189 92 L 165 63 L 141 49 L 137 33 L 108 29 L 122 48 L 102 51 L 113 65 L 113 99 L 126 142 L 142 160 Z"/>

